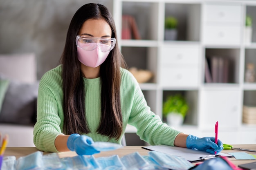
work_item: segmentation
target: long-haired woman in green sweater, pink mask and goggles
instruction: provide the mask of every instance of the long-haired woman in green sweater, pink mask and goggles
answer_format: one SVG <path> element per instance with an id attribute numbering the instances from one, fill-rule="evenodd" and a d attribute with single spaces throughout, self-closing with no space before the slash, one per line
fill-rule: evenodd
<path id="1" fill-rule="evenodd" d="M 196 148 L 214 154 L 222 142 L 186 135 L 150 111 L 139 84 L 125 69 L 114 20 L 101 4 L 85 4 L 74 14 L 61 65 L 40 80 L 34 144 L 50 152 L 98 153 L 91 144 L 121 144 L 126 125 L 151 145 Z M 80 135 L 79 135 L 80 134 Z"/>

